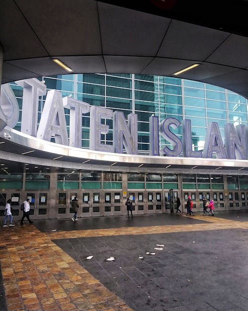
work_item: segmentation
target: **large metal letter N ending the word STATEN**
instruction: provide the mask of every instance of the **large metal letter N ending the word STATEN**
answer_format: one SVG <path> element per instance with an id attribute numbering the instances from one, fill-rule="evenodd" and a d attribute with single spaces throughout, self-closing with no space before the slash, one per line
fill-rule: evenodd
<path id="1" fill-rule="evenodd" d="M 115 111 L 113 120 L 114 152 L 123 153 L 124 146 L 127 154 L 137 154 L 137 142 L 137 114 L 128 114 L 126 124 L 124 113 Z"/>

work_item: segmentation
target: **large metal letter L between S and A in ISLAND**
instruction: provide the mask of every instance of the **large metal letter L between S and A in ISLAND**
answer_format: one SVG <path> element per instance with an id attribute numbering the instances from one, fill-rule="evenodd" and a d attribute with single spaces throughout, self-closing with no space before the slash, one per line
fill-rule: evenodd
<path id="1" fill-rule="evenodd" d="M 184 157 L 202 158 L 202 151 L 192 150 L 191 120 L 188 120 L 188 119 L 183 120 L 182 125 L 183 125 L 183 155 Z"/>

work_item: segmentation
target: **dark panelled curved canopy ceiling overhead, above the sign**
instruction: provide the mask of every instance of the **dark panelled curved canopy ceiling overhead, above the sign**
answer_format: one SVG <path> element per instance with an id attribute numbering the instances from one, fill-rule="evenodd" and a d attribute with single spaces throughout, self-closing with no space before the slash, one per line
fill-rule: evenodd
<path id="1" fill-rule="evenodd" d="M 73 73 L 173 76 L 197 63 L 178 77 L 248 97 L 247 1 L 111 2 L 1 0 L 2 83 L 65 74 L 52 58 Z"/>

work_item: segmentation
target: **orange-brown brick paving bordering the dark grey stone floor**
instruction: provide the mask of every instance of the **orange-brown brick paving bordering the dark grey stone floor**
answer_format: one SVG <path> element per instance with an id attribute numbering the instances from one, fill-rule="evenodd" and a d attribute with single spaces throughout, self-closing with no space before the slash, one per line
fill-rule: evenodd
<path id="1" fill-rule="evenodd" d="M 125 300 L 107 289 L 100 281 L 86 271 L 77 260 L 63 251 L 56 241 L 62 239 L 78 239 L 108 236 L 156 235 L 182 232 L 202 232 L 213 230 L 248 229 L 248 221 L 237 221 L 220 217 L 203 217 L 201 215 L 186 217 L 189 224 L 132 226 L 120 228 L 97 228 L 88 230 L 70 230 L 57 232 L 41 232 L 35 225 L 25 224 L 0 228 L 0 266 L 6 304 L 0 304 L 4 311 L 131 311 Z M 139 216 L 136 216 L 139 217 Z M 107 217 L 106 217 L 107 218 Z M 191 220 L 194 219 L 194 220 Z M 81 219 L 80 219 L 81 220 Z M 197 220 L 201 220 L 197 223 Z M 245 219 L 246 220 L 246 219 Z M 49 219 L 46 220 L 49 222 Z M 59 221 L 59 220 L 58 220 Z M 192 222 L 193 221 L 193 222 Z M 195 222 L 195 223 L 194 223 Z M 56 243 L 55 243 L 56 242 Z M 198 257 L 197 257 L 198 258 Z M 247 269 L 246 265 L 246 269 Z M 247 271 L 246 271 L 247 273 Z M 135 293 L 133 293 L 135 295 Z M 1 298 L 2 298 L 1 297 Z M 248 295 L 245 297 L 248 302 Z M 124 302 L 125 301 L 125 302 Z M 148 304 L 149 305 L 149 304 Z M 248 306 L 248 304 L 247 304 Z M 245 307 L 217 309 L 195 309 L 200 311 L 247 311 Z M 174 309 L 173 309 L 174 308 Z M 147 310 L 185 311 L 180 306 L 166 309 L 151 307 Z M 175 309 L 178 308 L 178 309 Z M 181 308 L 181 309 L 180 309 Z M 186 307 L 185 307 L 186 308 Z M 212 309 L 211 309 L 212 308 Z M 138 310 L 138 311 L 144 311 Z M 192 311 L 192 310 L 187 310 Z"/>

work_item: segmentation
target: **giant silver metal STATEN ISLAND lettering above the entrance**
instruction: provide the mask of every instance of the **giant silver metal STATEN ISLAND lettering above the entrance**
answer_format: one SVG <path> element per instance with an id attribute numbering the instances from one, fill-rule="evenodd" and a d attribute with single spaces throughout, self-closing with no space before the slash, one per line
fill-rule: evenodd
<path id="1" fill-rule="evenodd" d="M 51 90 L 47 92 L 46 85 L 37 79 L 16 81 L 23 87 L 23 102 L 21 116 L 21 132 L 51 141 L 82 148 L 82 115 L 90 113 L 90 149 L 103 152 L 137 154 L 138 131 L 137 114 L 127 115 L 113 112 L 111 109 L 91 106 L 71 97 L 62 98 L 61 92 Z M 39 96 L 46 95 L 45 105 L 38 126 Z M 69 137 L 66 129 L 64 108 L 70 110 Z M 5 126 L 14 127 L 19 119 L 19 106 L 9 85 L 1 86 L 0 93 L 0 131 Z M 113 119 L 113 144 L 103 144 L 101 135 L 109 133 L 109 126 L 105 119 Z M 182 125 L 182 140 L 173 133 Z M 217 122 L 211 122 L 207 127 L 204 148 L 201 151 L 192 150 L 191 121 L 179 121 L 174 117 L 159 122 L 157 116 L 149 118 L 150 156 L 166 155 L 178 157 L 212 158 L 213 154 L 219 159 L 248 159 L 248 126 L 225 124 L 225 146 Z M 160 150 L 159 135 L 172 146 Z"/>

